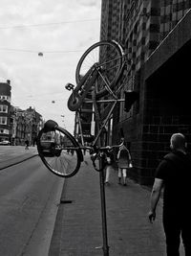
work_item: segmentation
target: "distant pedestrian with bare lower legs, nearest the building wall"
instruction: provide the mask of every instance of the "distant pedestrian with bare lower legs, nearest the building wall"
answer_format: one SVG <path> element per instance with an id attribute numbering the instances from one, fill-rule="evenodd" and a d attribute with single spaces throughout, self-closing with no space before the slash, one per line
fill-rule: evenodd
<path id="1" fill-rule="evenodd" d="M 118 184 L 127 185 L 127 170 L 131 163 L 131 154 L 124 145 L 124 138 L 121 139 L 122 146 L 120 146 L 117 153 L 117 168 L 118 168 Z M 121 183 L 122 181 L 122 183 Z"/>

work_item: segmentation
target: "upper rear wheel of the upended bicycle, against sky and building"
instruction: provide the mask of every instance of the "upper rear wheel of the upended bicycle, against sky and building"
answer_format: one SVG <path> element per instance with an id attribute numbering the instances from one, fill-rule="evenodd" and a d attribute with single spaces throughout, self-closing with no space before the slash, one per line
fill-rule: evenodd
<path id="1" fill-rule="evenodd" d="M 94 64 L 101 67 L 101 75 L 114 89 L 122 66 L 122 50 L 115 41 L 99 41 L 93 44 L 79 59 L 75 70 L 75 81 L 78 84 Z M 100 60 L 101 59 L 101 60 Z M 103 80 L 99 77 L 96 84 L 96 99 L 108 94 Z"/>

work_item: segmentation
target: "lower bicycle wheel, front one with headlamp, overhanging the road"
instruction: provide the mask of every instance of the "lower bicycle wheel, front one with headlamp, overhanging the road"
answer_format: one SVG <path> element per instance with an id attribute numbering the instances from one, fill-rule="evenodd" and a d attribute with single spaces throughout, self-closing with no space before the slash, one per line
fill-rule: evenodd
<path id="1" fill-rule="evenodd" d="M 51 133 L 51 142 L 44 140 Z M 47 144 L 46 144 L 47 143 Z M 44 165 L 61 177 L 74 176 L 83 161 L 83 155 L 74 136 L 64 128 L 47 131 L 42 128 L 37 136 L 37 151 Z"/>

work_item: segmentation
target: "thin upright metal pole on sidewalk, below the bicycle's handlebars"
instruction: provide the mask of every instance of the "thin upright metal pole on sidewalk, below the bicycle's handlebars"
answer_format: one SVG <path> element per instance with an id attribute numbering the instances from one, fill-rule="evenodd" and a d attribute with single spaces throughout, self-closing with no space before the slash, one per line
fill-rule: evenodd
<path id="1" fill-rule="evenodd" d="M 99 172 L 99 181 L 100 181 L 100 198 L 101 198 L 101 218 L 102 218 L 102 236 L 103 236 L 103 255 L 109 256 L 109 246 L 108 246 L 108 237 L 107 237 L 107 218 L 106 218 L 106 203 L 105 203 L 105 187 L 104 187 L 104 168 L 103 168 L 103 157 L 100 157 L 99 160 L 100 172 Z"/>

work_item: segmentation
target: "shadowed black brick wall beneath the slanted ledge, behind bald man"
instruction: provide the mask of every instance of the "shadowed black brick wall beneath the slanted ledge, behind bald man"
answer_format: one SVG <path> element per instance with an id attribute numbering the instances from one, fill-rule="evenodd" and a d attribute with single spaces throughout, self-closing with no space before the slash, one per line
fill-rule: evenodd
<path id="1" fill-rule="evenodd" d="M 175 43 L 176 39 L 178 38 L 175 37 Z M 186 136 L 190 151 L 190 71 L 187 64 L 190 54 L 191 40 L 187 41 L 144 82 L 145 107 L 140 169 L 142 183 L 152 182 L 159 161 L 170 150 L 169 141 L 173 133 L 181 132 Z M 156 55 L 156 62 L 158 62 L 158 55 Z"/>

